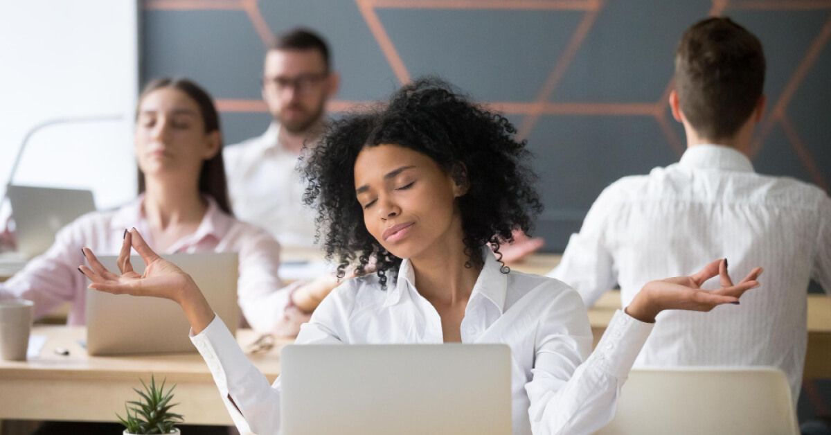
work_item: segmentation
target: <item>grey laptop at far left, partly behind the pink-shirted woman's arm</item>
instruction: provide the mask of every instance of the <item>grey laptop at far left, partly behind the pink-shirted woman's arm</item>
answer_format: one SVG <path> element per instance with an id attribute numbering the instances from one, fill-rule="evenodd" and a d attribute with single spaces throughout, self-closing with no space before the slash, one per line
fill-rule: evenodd
<path id="1" fill-rule="evenodd" d="M 96 210 L 90 190 L 8 185 L 17 250 L 27 258 L 41 255 L 55 242 L 57 230 Z"/>

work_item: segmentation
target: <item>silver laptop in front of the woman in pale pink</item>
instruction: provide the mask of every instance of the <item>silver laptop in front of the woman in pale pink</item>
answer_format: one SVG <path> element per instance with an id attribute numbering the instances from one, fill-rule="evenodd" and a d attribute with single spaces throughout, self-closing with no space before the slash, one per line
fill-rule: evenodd
<path id="1" fill-rule="evenodd" d="M 236 253 L 164 255 L 187 272 L 214 312 L 236 333 L 238 259 Z M 117 271 L 116 256 L 101 256 L 107 269 Z M 144 261 L 132 256 L 136 272 Z M 135 297 L 86 290 L 86 351 L 91 355 L 128 353 L 188 353 L 190 325 L 178 304 L 168 299 Z"/>

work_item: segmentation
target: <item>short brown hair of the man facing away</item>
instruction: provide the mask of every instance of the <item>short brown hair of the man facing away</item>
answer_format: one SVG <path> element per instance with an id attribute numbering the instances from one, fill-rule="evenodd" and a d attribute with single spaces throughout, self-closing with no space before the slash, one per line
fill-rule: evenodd
<path id="1" fill-rule="evenodd" d="M 728 17 L 696 22 L 676 50 L 675 87 L 681 111 L 709 140 L 735 136 L 765 87 L 762 43 Z"/>

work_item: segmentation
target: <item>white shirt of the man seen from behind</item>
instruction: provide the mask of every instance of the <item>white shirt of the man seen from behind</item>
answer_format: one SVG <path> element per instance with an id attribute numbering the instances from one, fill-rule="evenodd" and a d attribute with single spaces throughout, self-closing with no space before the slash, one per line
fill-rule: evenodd
<path id="1" fill-rule="evenodd" d="M 648 281 L 721 257 L 735 282 L 764 267 L 760 288 L 710 314 L 659 314 L 636 365 L 772 365 L 788 375 L 795 403 L 809 279 L 831 290 L 831 200 L 823 190 L 758 175 L 735 149 L 692 146 L 679 163 L 603 190 L 551 275 L 588 305 L 617 282 L 626 306 Z M 717 287 L 717 277 L 705 285 Z"/>

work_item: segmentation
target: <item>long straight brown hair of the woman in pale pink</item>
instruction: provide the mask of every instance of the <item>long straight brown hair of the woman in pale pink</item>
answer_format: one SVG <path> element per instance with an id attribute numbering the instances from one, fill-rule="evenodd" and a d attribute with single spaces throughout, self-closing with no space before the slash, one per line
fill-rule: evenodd
<path id="1" fill-rule="evenodd" d="M 199 106 L 199 113 L 205 126 L 205 133 L 219 131 L 219 152 L 216 156 L 202 163 L 202 170 L 199 171 L 199 193 L 209 195 L 219 205 L 219 209 L 229 215 L 234 215 L 231 210 L 231 200 L 228 196 L 228 180 L 225 179 L 225 163 L 222 160 L 222 131 L 219 129 L 219 112 L 214 106 L 214 99 L 210 94 L 199 87 L 196 83 L 186 78 L 159 78 L 148 83 L 139 96 L 139 106 L 147 94 L 164 87 L 172 87 L 183 91 Z M 136 110 L 138 113 L 138 109 Z M 145 175 L 139 170 L 139 194 L 145 191 Z"/>

